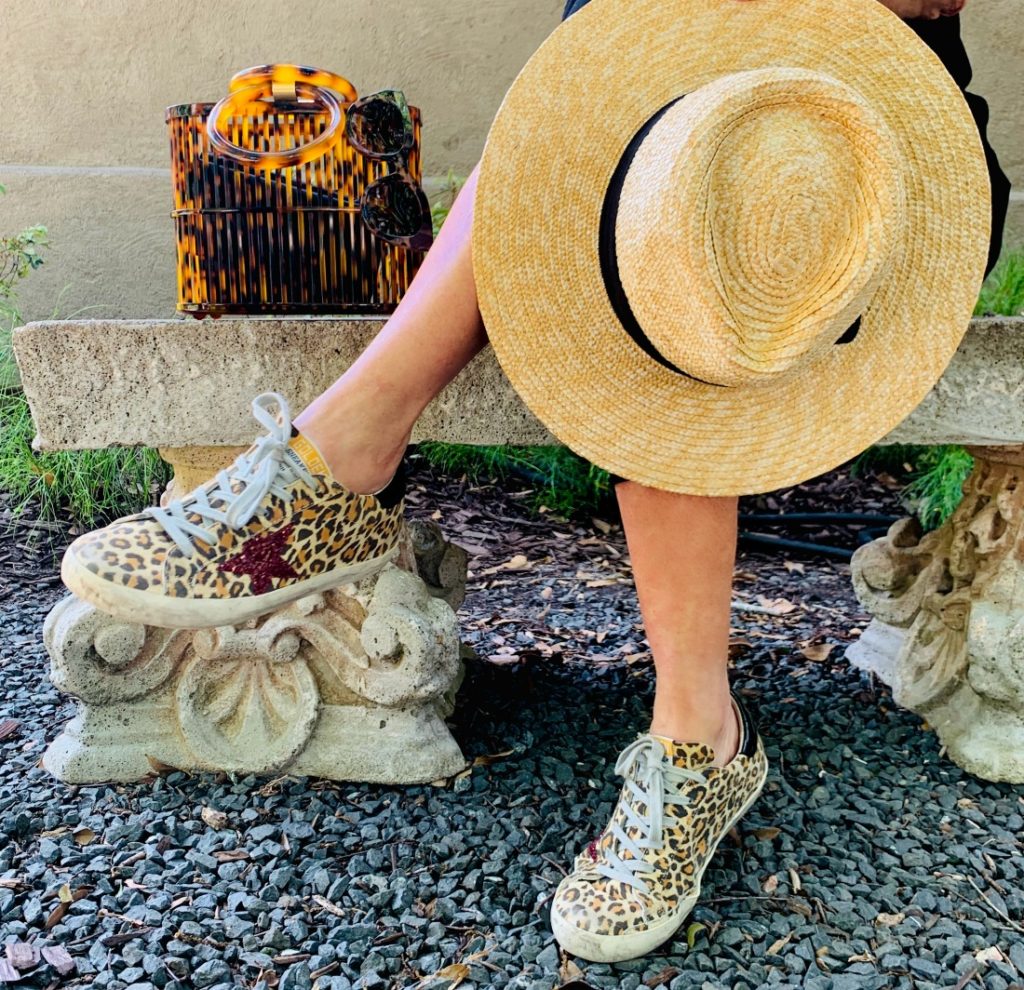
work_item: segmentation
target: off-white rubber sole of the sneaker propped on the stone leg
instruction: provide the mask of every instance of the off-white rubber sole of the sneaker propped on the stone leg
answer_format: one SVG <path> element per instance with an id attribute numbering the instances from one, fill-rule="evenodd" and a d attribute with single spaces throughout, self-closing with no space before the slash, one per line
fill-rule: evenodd
<path id="1" fill-rule="evenodd" d="M 60 562 L 60 579 L 70 592 L 126 622 L 156 626 L 161 629 L 205 629 L 211 626 L 237 626 L 250 618 L 314 595 L 377 573 L 398 555 L 395 545 L 386 554 L 357 564 L 344 564 L 262 595 L 245 598 L 173 598 L 158 592 L 139 591 L 103 580 L 83 567 L 74 554 L 66 553 Z"/>

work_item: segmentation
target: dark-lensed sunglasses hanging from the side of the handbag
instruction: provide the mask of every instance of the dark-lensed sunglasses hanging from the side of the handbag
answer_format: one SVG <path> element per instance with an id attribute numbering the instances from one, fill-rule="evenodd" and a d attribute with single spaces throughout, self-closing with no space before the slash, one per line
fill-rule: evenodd
<path id="1" fill-rule="evenodd" d="M 382 241 L 426 251 L 433 242 L 433 222 L 426 195 L 409 174 L 414 132 L 404 94 L 385 89 L 349 103 L 345 133 L 357 152 L 388 162 L 392 169 L 362 195 L 362 222 Z"/>

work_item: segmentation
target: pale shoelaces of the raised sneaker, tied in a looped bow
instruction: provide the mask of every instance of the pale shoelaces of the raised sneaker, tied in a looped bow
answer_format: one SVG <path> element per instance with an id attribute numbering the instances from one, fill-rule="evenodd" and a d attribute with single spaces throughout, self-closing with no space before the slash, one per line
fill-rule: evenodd
<path id="1" fill-rule="evenodd" d="M 274 405 L 280 410 L 276 417 L 270 412 Z M 252 410 L 253 416 L 268 432 L 259 437 L 251 449 L 240 454 L 230 467 L 217 472 L 216 487 L 209 493 L 197 488 L 166 507 L 151 506 L 143 510 L 164 527 L 186 557 L 196 553 L 193 539 L 208 544 L 217 542 L 214 533 L 189 520 L 187 514 L 238 529 L 256 514 L 268 491 L 288 501 L 285 485 L 296 478 L 310 488 L 316 487 L 312 474 L 285 456 L 292 436 L 292 417 L 285 397 L 278 392 L 261 392 L 253 399 Z M 238 491 L 233 490 L 232 481 L 242 482 Z M 213 505 L 214 502 L 218 504 Z"/>

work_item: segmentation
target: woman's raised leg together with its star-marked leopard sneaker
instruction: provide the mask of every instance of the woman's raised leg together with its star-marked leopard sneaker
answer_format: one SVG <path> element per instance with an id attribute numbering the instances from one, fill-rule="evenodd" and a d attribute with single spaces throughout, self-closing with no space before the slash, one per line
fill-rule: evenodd
<path id="1" fill-rule="evenodd" d="M 395 469 L 413 424 L 486 343 L 470 255 L 476 174 L 401 305 L 348 371 L 293 419 L 288 456 L 287 424 L 270 420 L 272 406 L 258 396 L 254 415 L 272 422 L 248 451 L 260 458 L 260 470 L 247 471 L 240 486 L 218 474 L 140 518 L 83 533 L 61 562 L 71 591 L 126 621 L 145 614 L 155 626 L 198 629 L 257 617 L 387 563 L 401 532 L 404 481 Z M 268 450 L 272 462 L 263 460 Z M 315 480 L 325 471 L 334 481 Z M 295 478 L 305 483 L 286 487 Z"/>

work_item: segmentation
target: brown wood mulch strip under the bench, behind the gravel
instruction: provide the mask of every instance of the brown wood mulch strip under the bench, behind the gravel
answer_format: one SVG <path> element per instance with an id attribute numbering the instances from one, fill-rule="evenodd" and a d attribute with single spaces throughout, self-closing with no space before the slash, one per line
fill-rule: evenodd
<path id="1" fill-rule="evenodd" d="M 602 516 L 566 520 L 525 509 L 528 486 L 501 487 L 443 477 L 411 459 L 409 513 L 433 519 L 470 555 L 463 635 L 481 658 L 498 664 L 531 659 L 563 663 L 647 665 L 647 650 L 629 555 L 613 502 Z M 786 525 L 787 515 L 906 515 L 900 481 L 884 473 L 853 478 L 844 465 L 803 484 L 740 499 L 740 530 L 855 549 L 858 533 L 884 524 L 818 521 Z M 777 521 L 744 522 L 745 515 Z M 30 515 L 12 520 L 0 497 L 0 602 L 39 609 L 63 594 L 59 560 L 75 535 L 67 524 Z M 735 656 L 785 651 L 808 663 L 843 662 L 842 647 L 869 616 L 859 607 L 847 560 L 741 537 L 733 583 Z M 766 651 L 767 648 L 767 652 Z M 744 672 L 750 673 L 750 672 Z"/>

